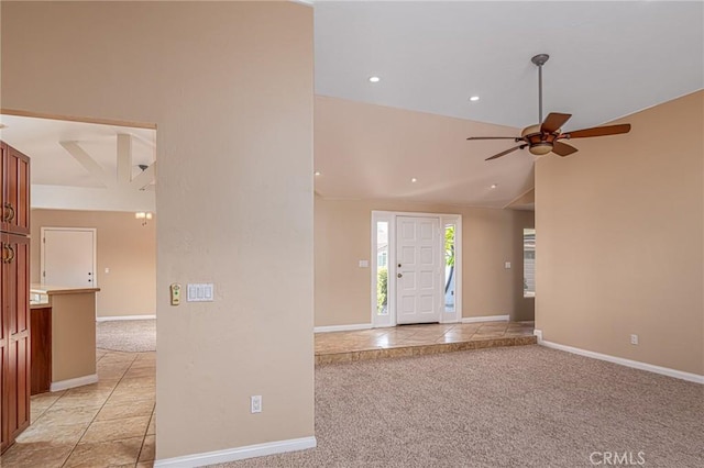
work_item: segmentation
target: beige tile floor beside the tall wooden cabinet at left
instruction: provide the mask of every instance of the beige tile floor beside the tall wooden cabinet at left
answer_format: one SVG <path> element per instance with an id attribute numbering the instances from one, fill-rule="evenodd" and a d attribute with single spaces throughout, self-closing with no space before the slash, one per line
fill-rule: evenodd
<path id="1" fill-rule="evenodd" d="M 32 397 L 32 424 L 0 466 L 152 467 L 156 353 L 98 349 L 99 382 Z"/>

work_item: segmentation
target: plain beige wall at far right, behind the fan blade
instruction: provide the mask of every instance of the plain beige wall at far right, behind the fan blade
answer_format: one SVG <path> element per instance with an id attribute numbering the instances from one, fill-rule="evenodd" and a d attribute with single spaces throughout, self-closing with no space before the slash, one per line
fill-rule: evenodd
<path id="1" fill-rule="evenodd" d="M 536 167 L 536 326 L 550 342 L 704 375 L 704 92 Z M 629 344 L 638 334 L 640 344 Z"/>

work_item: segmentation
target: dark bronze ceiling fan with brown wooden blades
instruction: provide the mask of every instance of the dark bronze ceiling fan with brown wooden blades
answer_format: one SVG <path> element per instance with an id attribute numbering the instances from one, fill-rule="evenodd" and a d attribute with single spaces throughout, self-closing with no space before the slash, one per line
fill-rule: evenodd
<path id="1" fill-rule="evenodd" d="M 607 125 L 607 126 L 594 126 L 592 129 L 575 130 L 573 132 L 562 133 L 560 129 L 572 114 L 561 114 L 558 112 L 551 112 L 546 120 L 542 120 L 542 66 L 548 62 L 550 56 L 548 54 L 538 54 L 530 59 L 536 66 L 538 66 L 538 121 L 542 122 L 538 125 L 530 125 L 520 132 L 520 136 L 470 136 L 466 140 L 513 140 L 516 143 L 520 143 L 518 146 L 506 149 L 494 156 L 487 157 L 485 160 L 496 159 L 502 156 L 506 156 L 516 149 L 524 149 L 528 147 L 528 151 L 534 155 L 546 155 L 550 152 L 558 156 L 569 156 L 572 153 L 576 153 L 574 146 L 562 143 L 561 140 L 572 138 L 586 138 L 590 136 L 606 136 L 618 135 L 620 133 L 630 132 L 630 124 L 624 123 L 620 125 Z"/>

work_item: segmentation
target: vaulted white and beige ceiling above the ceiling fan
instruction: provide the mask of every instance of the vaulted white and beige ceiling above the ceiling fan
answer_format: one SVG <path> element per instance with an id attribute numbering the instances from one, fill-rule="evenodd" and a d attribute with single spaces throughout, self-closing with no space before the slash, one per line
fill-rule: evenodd
<path id="1" fill-rule="evenodd" d="M 316 92 L 336 98 L 316 101 L 316 190 L 507 205 L 535 156 L 484 161 L 514 142 L 464 138 L 538 123 L 534 55 L 550 55 L 543 115 L 578 130 L 702 89 L 703 24 L 702 2 L 315 1 Z"/>

